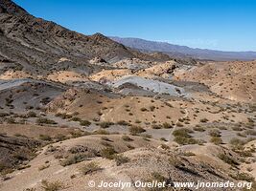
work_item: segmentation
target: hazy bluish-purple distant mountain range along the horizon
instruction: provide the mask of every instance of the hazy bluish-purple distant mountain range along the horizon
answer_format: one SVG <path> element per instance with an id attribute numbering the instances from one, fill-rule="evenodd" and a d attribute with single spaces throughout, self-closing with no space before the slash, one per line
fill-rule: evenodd
<path id="1" fill-rule="evenodd" d="M 256 52 L 222 52 L 207 49 L 193 49 L 187 46 L 179 46 L 167 42 L 155 42 L 140 38 L 120 38 L 110 37 L 112 40 L 119 42 L 132 49 L 143 52 L 161 52 L 175 57 L 193 57 L 207 60 L 254 60 Z"/>

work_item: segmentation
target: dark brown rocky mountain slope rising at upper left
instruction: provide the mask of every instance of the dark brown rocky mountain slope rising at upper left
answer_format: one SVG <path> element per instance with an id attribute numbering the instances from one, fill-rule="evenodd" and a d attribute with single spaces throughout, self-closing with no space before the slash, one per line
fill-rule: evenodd
<path id="1" fill-rule="evenodd" d="M 11 0 L 0 0 L 0 59 L 17 62 L 38 71 L 57 64 L 61 57 L 71 65 L 88 66 L 88 60 L 102 57 L 108 62 L 122 58 L 154 59 L 131 50 L 101 33 L 83 35 L 58 24 L 35 18 Z M 84 65 L 86 64 L 86 65 Z M 88 69 L 89 70 L 89 69 Z"/>

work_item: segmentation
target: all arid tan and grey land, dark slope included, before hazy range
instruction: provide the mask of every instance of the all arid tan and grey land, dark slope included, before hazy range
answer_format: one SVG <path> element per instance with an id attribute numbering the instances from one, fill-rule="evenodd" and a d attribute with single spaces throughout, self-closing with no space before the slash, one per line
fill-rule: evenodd
<path id="1" fill-rule="evenodd" d="M 254 183 L 256 61 L 183 64 L 71 32 L 9 0 L 0 0 L 0 44 L 1 191 Z"/>

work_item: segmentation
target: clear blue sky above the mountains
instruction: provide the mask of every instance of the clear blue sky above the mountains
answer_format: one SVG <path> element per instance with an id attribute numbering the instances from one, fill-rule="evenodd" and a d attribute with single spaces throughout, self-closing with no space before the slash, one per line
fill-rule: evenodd
<path id="1" fill-rule="evenodd" d="M 77 32 L 256 51 L 256 0 L 14 0 Z"/>

